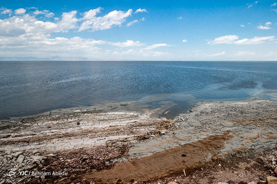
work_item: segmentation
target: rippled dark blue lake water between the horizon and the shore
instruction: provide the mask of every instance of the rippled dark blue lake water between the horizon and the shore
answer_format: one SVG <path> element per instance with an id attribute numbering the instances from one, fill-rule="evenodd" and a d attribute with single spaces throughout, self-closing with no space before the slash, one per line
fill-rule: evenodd
<path id="1" fill-rule="evenodd" d="M 277 62 L 0 62 L 0 118 L 138 100 L 173 118 L 202 100 L 277 100 Z"/>

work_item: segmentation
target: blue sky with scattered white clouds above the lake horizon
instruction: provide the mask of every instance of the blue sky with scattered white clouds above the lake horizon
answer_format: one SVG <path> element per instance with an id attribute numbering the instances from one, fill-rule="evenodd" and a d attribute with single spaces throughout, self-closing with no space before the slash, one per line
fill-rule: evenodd
<path id="1" fill-rule="evenodd" d="M 3 1 L 0 60 L 16 57 L 276 61 L 277 1 Z"/>

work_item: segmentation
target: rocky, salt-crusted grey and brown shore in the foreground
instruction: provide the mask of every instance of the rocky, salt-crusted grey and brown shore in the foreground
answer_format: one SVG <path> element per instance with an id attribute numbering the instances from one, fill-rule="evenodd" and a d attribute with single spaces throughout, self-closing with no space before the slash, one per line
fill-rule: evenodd
<path id="1" fill-rule="evenodd" d="M 272 174 L 276 101 L 202 101 L 174 119 L 116 111 L 133 103 L 0 120 L 1 177 L 8 183 L 217 183 Z M 268 160 L 271 167 L 263 167 Z"/>

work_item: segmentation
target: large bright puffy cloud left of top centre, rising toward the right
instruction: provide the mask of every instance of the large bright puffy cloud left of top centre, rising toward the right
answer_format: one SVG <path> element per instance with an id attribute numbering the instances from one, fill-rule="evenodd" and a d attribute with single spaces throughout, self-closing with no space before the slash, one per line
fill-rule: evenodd
<path id="1" fill-rule="evenodd" d="M 132 14 L 132 9 L 129 9 L 127 12 L 115 10 L 103 17 L 96 17 L 100 10 L 101 8 L 98 8 L 84 13 L 82 20 L 85 21 L 81 24 L 79 32 L 87 29 L 96 31 L 110 29 L 113 26 L 121 26 L 126 21 L 126 18 Z"/>

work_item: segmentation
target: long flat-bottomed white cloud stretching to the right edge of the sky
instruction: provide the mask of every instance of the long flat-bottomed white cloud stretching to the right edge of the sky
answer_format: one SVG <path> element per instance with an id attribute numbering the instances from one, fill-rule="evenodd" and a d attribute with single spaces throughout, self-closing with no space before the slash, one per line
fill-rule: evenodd
<path id="1" fill-rule="evenodd" d="M 208 42 L 207 44 L 237 44 L 237 45 L 246 45 L 246 44 L 262 44 L 264 41 L 273 39 L 275 36 L 268 37 L 254 37 L 252 39 L 242 39 L 238 40 L 239 37 L 237 35 L 227 35 L 223 37 L 218 37 L 213 41 Z"/>

